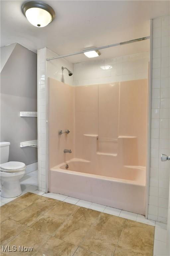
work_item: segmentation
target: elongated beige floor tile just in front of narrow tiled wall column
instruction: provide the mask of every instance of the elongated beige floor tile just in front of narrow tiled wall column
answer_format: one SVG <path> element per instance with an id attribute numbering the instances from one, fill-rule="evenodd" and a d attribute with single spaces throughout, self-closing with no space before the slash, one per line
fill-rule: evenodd
<path id="1" fill-rule="evenodd" d="M 21 224 L 26 224 L 30 226 L 35 222 L 40 216 L 42 216 L 46 211 L 51 209 L 56 203 L 57 200 L 37 200 L 35 203 L 29 205 L 24 210 L 13 215 L 11 219 L 20 222 Z"/>

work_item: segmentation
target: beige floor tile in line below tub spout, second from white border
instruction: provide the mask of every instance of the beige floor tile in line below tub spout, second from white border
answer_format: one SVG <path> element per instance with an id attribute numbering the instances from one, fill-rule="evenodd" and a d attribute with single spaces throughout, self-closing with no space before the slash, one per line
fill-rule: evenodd
<path id="1" fill-rule="evenodd" d="M 71 216 L 63 225 L 56 231 L 54 236 L 60 240 L 79 245 L 89 231 L 91 224 L 85 221 L 76 220 Z"/>

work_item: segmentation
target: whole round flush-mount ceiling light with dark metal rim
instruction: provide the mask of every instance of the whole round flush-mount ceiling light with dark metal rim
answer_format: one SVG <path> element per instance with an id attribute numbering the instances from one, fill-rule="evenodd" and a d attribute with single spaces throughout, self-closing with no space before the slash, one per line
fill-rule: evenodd
<path id="1" fill-rule="evenodd" d="M 39 28 L 47 26 L 55 18 L 52 7 L 41 1 L 26 2 L 21 9 L 28 21 Z"/>

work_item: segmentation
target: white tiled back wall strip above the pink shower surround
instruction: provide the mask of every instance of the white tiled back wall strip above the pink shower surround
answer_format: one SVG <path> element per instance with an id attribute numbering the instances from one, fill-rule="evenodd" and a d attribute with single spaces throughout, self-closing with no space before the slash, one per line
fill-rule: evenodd
<path id="1" fill-rule="evenodd" d="M 76 63 L 74 64 L 74 85 L 147 79 L 148 62 L 149 52 L 143 52 L 100 61 Z"/>

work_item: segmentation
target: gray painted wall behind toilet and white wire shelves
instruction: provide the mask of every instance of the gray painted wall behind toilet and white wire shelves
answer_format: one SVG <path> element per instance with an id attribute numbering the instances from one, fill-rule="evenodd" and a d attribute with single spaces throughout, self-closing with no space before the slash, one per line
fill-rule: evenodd
<path id="1" fill-rule="evenodd" d="M 9 161 L 37 162 L 37 148 L 20 142 L 37 139 L 37 118 L 20 111 L 37 111 L 37 54 L 16 44 L 1 71 L 1 141 L 9 141 Z"/>

